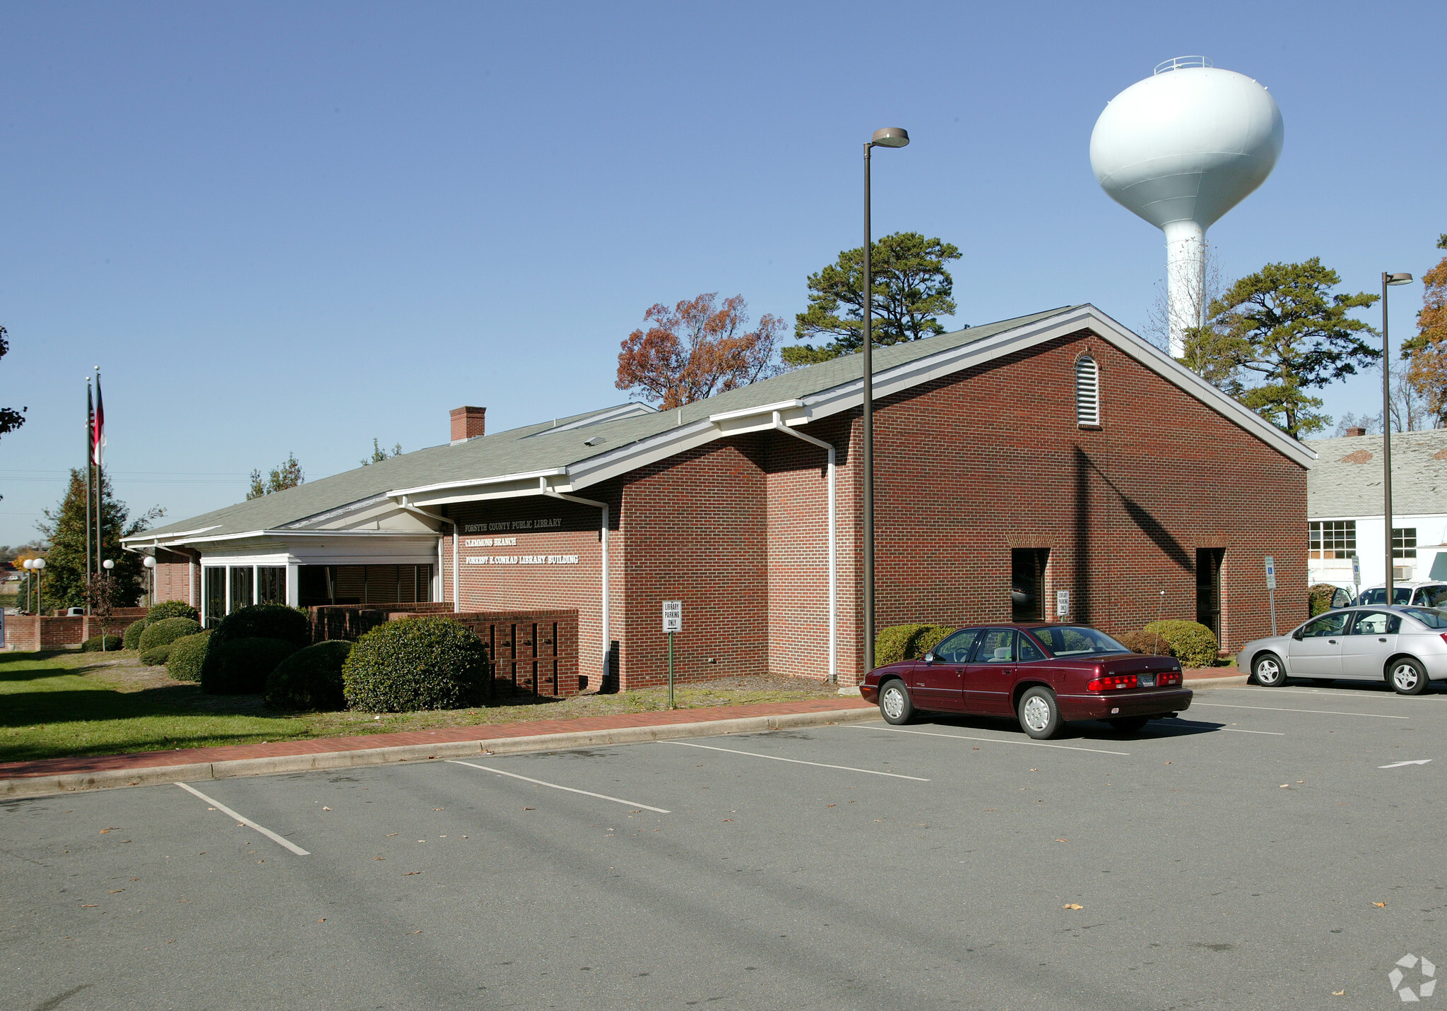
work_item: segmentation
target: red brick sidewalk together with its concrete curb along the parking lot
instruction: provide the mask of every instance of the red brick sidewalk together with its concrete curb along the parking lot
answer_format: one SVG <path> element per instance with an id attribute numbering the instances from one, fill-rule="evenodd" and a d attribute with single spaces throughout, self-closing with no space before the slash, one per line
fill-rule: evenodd
<path id="1" fill-rule="evenodd" d="M 1185 671 L 1185 687 L 1188 688 L 1234 684 L 1246 684 L 1246 677 L 1234 667 Z M 580 716 L 566 720 L 525 720 L 404 733 L 366 733 L 352 738 L 311 738 L 258 745 L 3 762 L 0 764 L 0 797 L 35 797 L 179 780 L 307 772 L 382 765 L 385 762 L 556 751 L 718 733 L 760 733 L 871 719 L 877 712 L 874 706 L 858 696 L 841 696 L 839 699 L 807 699 L 752 706 L 713 706 L 709 709 Z"/>

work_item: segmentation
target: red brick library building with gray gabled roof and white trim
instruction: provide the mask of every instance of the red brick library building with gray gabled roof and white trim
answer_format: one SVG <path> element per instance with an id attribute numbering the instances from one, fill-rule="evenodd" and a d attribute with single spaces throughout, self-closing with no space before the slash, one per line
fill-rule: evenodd
<path id="1" fill-rule="evenodd" d="M 159 596 L 579 612 L 582 673 L 862 675 L 861 360 L 451 440 L 127 538 Z M 1269 632 L 1315 454 L 1092 305 L 875 356 L 877 625 L 1158 615 Z M 1305 597 L 1278 610 L 1305 616 Z"/>

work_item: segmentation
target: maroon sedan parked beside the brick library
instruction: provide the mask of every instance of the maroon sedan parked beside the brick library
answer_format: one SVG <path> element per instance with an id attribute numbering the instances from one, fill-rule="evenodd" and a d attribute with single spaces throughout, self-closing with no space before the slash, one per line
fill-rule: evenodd
<path id="1" fill-rule="evenodd" d="M 870 671 L 860 686 L 890 723 L 920 710 L 1016 716 L 1032 738 L 1068 720 L 1107 720 L 1139 730 L 1191 704 L 1181 664 L 1132 652 L 1085 625 L 1010 623 L 965 628 L 925 654 Z"/>

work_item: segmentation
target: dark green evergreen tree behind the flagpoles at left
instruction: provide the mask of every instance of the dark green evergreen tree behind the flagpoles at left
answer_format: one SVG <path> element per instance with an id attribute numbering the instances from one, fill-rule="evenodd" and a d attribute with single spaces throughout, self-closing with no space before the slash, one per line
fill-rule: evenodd
<path id="1" fill-rule="evenodd" d="M 93 487 L 94 493 L 94 487 Z M 101 558 L 116 563 L 111 571 L 114 605 L 133 607 L 140 599 L 143 568 L 140 555 L 120 550 L 120 538 L 139 534 L 164 515 L 155 508 L 130 521 L 130 511 L 111 490 L 110 477 L 101 480 Z M 94 521 L 94 515 L 91 516 Z M 45 606 L 85 606 L 85 473 L 71 469 L 71 485 L 55 509 L 45 511 L 38 524 L 49 550 L 45 554 Z M 94 544 L 93 548 L 94 551 Z"/>

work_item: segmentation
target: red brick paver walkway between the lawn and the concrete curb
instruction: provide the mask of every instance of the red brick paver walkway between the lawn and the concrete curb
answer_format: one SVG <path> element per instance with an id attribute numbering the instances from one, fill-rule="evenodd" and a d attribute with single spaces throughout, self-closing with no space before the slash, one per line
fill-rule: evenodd
<path id="1" fill-rule="evenodd" d="M 629 726 L 669 726 L 673 723 L 708 723 L 745 716 L 787 716 L 790 713 L 822 713 L 831 709 L 873 709 L 858 696 L 838 699 L 807 699 L 802 701 L 768 701 L 752 706 L 712 706 L 708 709 L 674 709 L 653 713 L 619 713 L 616 716 L 579 716 L 570 720 L 528 720 L 522 723 L 482 723 L 451 726 L 437 730 L 408 730 L 404 733 L 363 733 L 352 738 L 311 738 L 304 741 L 275 741 L 262 745 L 223 745 L 218 748 L 187 748 L 178 751 L 143 751 L 130 755 L 94 755 L 85 758 L 46 758 L 38 762 L 0 762 L 0 780 L 27 775 L 74 775 L 103 769 L 142 769 L 191 762 L 226 762 L 234 758 L 275 758 L 278 755 L 324 755 L 337 751 L 366 751 L 398 745 L 453 743 L 459 741 L 496 741 L 499 738 L 532 738 L 544 733 L 573 733 L 577 730 L 616 730 Z"/>

